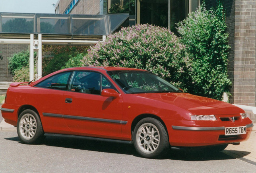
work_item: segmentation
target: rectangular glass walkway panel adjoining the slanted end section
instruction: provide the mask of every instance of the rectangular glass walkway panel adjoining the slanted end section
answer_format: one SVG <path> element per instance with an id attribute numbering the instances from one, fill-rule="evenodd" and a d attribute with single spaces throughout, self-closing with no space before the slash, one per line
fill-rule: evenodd
<path id="1" fill-rule="evenodd" d="M 107 35 L 105 15 L 72 15 L 73 34 Z"/>

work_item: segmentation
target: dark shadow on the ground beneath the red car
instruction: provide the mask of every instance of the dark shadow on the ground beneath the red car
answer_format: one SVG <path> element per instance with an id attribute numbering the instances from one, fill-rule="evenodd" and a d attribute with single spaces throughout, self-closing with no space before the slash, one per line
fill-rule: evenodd
<path id="1" fill-rule="evenodd" d="M 19 137 L 4 138 L 10 141 L 21 143 Z M 126 154 L 141 157 L 135 150 L 133 144 L 111 143 L 102 141 L 93 141 L 87 139 L 78 139 L 72 137 L 47 136 L 39 145 L 56 146 L 63 148 L 72 148 L 79 150 L 89 150 L 96 152 L 107 152 L 115 154 Z M 165 156 L 158 158 L 161 160 L 182 160 L 182 161 L 209 161 L 209 160 L 229 160 L 242 158 L 250 152 L 237 150 L 223 150 L 221 152 L 205 152 L 200 148 L 170 148 Z"/>

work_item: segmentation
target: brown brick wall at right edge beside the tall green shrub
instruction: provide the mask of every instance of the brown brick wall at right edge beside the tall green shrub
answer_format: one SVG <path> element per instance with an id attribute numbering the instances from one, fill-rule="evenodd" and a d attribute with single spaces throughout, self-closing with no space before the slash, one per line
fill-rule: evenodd
<path id="1" fill-rule="evenodd" d="M 255 106 L 256 0 L 235 0 L 233 102 Z M 255 123 L 255 115 L 253 120 Z"/>

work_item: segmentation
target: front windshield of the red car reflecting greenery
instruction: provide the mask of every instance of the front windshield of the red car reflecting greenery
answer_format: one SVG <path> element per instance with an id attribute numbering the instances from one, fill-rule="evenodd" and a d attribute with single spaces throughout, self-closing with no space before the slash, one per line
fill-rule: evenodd
<path id="1" fill-rule="evenodd" d="M 108 72 L 125 93 L 181 92 L 159 76 L 139 70 L 114 70 Z"/>

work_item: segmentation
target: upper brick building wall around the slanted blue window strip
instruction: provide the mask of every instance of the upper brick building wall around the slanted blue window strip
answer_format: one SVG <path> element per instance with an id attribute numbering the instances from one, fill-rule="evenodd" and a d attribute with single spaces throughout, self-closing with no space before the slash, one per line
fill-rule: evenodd
<path id="1" fill-rule="evenodd" d="M 60 0 L 59 13 L 64 13 L 72 0 Z M 79 0 L 76 6 L 70 11 L 70 14 L 99 14 L 99 0 Z"/>

